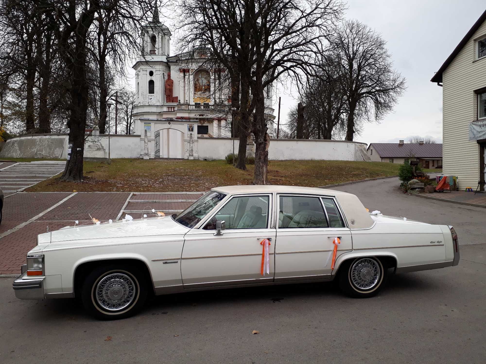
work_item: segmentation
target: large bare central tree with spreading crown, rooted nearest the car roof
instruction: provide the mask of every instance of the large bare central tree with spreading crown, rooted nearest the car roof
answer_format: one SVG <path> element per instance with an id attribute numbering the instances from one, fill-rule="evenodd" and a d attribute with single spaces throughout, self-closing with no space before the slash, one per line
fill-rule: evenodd
<path id="1" fill-rule="evenodd" d="M 268 146 L 265 90 L 286 77 L 302 83 L 315 73 L 317 55 L 343 10 L 339 0 L 184 0 L 188 43 L 210 47 L 227 68 L 238 66 L 240 113 L 255 140 L 254 184 L 267 184 Z M 231 57 L 228 57 L 230 55 Z M 251 97 L 246 90 L 251 91 Z M 243 110 L 243 111 L 242 111 Z M 240 134 L 240 149 L 242 145 Z"/>

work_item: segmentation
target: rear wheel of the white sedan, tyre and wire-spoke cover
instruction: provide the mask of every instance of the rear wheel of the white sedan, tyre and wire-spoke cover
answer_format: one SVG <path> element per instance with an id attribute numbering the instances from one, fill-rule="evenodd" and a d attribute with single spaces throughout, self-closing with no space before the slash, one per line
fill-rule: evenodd
<path id="1" fill-rule="evenodd" d="M 340 268 L 339 286 L 350 297 L 373 297 L 382 289 L 387 273 L 378 258 L 356 258 Z"/>

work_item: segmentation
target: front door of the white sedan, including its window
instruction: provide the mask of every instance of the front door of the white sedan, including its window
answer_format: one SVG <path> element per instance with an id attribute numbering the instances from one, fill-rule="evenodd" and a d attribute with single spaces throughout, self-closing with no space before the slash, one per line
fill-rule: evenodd
<path id="1" fill-rule="evenodd" d="M 272 194 L 235 195 L 198 229 L 185 235 L 181 273 L 184 288 L 245 283 L 274 279 L 274 241 L 270 228 Z M 226 230 L 215 236 L 216 221 L 226 222 Z M 260 274 L 264 238 L 271 238 L 270 274 Z"/>

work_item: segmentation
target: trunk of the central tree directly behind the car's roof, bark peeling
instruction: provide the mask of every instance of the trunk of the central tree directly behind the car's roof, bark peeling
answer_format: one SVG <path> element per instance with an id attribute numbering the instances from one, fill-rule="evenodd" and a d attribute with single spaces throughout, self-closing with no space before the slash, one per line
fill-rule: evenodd
<path id="1" fill-rule="evenodd" d="M 258 79 L 258 77 L 257 77 Z M 260 99 L 255 108 L 255 120 L 253 135 L 255 136 L 255 172 L 252 184 L 269 184 L 268 183 L 268 147 L 270 136 L 267 133 L 267 121 L 265 119 L 265 103 L 263 102 L 263 89 L 256 85 L 256 92 L 253 97 Z"/>

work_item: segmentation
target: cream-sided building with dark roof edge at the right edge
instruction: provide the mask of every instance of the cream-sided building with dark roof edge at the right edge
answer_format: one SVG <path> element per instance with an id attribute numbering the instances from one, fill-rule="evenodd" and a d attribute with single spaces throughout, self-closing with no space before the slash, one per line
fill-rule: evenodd
<path id="1" fill-rule="evenodd" d="M 443 172 L 475 189 L 486 174 L 486 11 L 431 81 L 443 87 Z"/>

